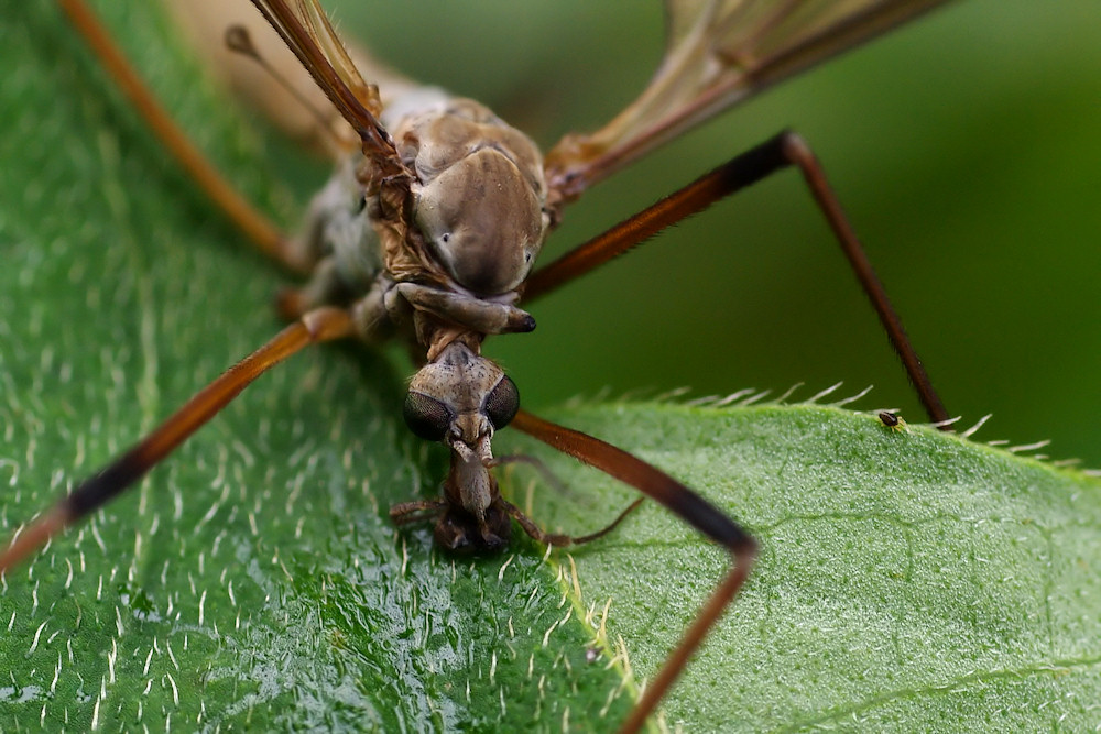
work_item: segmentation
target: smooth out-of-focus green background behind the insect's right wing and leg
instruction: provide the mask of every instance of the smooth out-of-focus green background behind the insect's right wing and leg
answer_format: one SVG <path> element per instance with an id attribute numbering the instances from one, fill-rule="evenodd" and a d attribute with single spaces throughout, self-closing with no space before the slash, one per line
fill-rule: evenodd
<path id="1" fill-rule="evenodd" d="M 657 63 L 657 2 L 333 3 L 342 31 L 544 145 Z M 978 437 L 1101 464 L 1101 9 L 970 0 L 766 92 L 589 191 L 547 259 L 792 127 L 826 164 L 948 408 Z M 794 174 L 533 307 L 497 339 L 527 405 L 690 386 L 874 384 L 923 414 Z"/>

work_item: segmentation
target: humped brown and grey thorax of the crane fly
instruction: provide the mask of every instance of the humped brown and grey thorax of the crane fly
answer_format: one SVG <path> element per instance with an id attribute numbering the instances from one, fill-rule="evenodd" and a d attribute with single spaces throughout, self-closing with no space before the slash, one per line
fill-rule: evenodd
<path id="1" fill-rule="evenodd" d="M 357 304 L 364 339 L 396 325 L 428 360 L 464 331 L 534 328 L 513 304 L 549 223 L 536 145 L 432 88 L 391 100 L 383 121 L 412 182 L 403 193 L 359 154 L 337 166 L 304 232 L 318 262 L 306 305 Z"/>

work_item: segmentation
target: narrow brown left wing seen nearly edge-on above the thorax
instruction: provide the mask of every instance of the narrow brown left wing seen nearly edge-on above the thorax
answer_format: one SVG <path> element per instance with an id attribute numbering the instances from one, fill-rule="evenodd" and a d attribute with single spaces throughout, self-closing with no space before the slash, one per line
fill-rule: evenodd
<path id="1" fill-rule="evenodd" d="M 309 75 L 352 127 L 380 177 L 406 176 L 385 129 L 379 123 L 378 87 L 360 76 L 317 0 L 252 0 Z"/>

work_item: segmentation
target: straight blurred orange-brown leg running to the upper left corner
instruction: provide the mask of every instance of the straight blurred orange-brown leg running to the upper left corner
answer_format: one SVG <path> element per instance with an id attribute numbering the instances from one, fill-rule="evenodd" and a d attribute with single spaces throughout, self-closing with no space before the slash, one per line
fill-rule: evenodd
<path id="1" fill-rule="evenodd" d="M 138 72 L 111 40 L 107 29 L 84 0 L 57 0 L 73 26 L 85 37 L 107 73 L 145 119 L 157 140 L 206 191 L 211 201 L 265 255 L 292 273 L 308 274 L 313 263 L 304 262 L 280 230 L 227 182 L 187 134 L 172 120 Z"/>

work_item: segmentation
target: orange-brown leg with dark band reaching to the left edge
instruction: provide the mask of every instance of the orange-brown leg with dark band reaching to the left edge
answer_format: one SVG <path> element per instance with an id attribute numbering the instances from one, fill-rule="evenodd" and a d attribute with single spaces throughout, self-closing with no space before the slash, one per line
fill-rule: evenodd
<path id="1" fill-rule="evenodd" d="M 7 550 L 0 552 L 0 573 L 41 548 L 57 533 L 102 507 L 127 487 L 133 486 L 264 372 L 304 347 L 352 335 L 351 317 L 339 308 L 310 311 L 280 331 L 266 344 L 199 391 L 129 451 L 18 533 Z"/>

